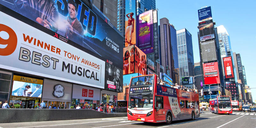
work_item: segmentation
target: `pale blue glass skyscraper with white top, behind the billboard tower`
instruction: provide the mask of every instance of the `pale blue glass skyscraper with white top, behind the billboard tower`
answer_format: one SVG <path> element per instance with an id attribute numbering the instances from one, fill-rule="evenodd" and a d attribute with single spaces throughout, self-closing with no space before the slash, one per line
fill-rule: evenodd
<path id="1" fill-rule="evenodd" d="M 232 56 L 232 49 L 231 49 L 228 31 L 226 30 L 226 28 L 223 25 L 220 25 L 217 28 L 218 28 L 219 40 L 222 40 L 222 42 L 225 42 L 226 47 L 227 47 L 228 56 Z"/>

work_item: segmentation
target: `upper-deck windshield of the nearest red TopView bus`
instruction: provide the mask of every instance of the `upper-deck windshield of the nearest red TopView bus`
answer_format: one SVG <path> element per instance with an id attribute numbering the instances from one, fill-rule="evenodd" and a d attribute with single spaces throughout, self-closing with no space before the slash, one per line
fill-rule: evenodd
<path id="1" fill-rule="evenodd" d="M 132 78 L 131 86 L 153 84 L 153 76 L 140 76 Z"/>

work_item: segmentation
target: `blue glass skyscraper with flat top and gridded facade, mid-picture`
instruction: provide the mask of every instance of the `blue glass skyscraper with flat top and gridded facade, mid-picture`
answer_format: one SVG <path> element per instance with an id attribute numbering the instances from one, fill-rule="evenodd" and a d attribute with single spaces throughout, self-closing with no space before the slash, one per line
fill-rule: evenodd
<path id="1" fill-rule="evenodd" d="M 194 76 L 194 55 L 192 36 L 186 28 L 176 31 L 180 83 L 182 77 Z"/>

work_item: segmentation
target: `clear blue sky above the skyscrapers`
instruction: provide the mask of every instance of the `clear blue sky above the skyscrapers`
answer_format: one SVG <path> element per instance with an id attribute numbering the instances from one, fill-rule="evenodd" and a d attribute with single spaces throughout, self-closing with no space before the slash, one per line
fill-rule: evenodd
<path id="1" fill-rule="evenodd" d="M 230 36 L 233 52 L 240 53 L 244 65 L 247 85 L 256 100 L 256 1 L 253 0 L 156 0 L 158 21 L 166 17 L 176 30 L 187 28 L 192 35 L 194 62 L 199 62 L 198 13 L 203 6 L 211 6 L 214 27 L 223 25 Z"/>

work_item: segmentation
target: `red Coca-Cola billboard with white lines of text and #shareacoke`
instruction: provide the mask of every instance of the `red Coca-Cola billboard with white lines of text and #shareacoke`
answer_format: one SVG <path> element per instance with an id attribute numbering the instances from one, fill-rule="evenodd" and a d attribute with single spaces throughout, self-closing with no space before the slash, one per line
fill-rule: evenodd
<path id="1" fill-rule="evenodd" d="M 204 70 L 204 84 L 220 83 L 218 62 L 204 63 L 203 70 Z"/>

